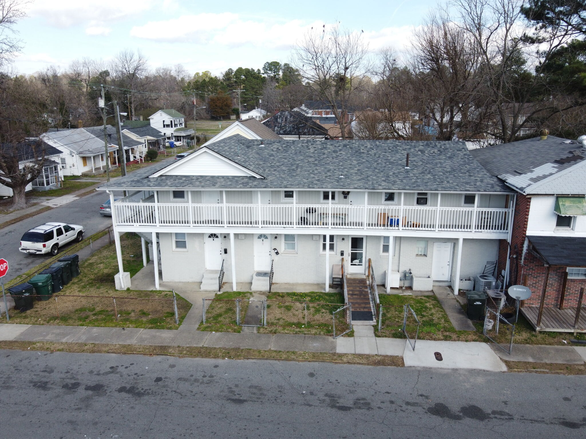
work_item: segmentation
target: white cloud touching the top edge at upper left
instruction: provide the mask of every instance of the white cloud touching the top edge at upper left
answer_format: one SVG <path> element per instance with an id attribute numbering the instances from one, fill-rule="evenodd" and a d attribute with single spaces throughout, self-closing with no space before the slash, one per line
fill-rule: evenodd
<path id="1" fill-rule="evenodd" d="M 70 28 L 91 20 L 111 21 L 136 16 L 168 0 L 36 0 L 28 15 L 40 16 L 57 28 Z"/>

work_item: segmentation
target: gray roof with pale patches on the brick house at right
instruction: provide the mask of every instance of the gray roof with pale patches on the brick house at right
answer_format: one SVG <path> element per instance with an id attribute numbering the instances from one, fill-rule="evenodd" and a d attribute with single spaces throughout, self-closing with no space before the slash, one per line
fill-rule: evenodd
<path id="1" fill-rule="evenodd" d="M 492 175 L 529 194 L 584 194 L 586 149 L 576 140 L 548 136 L 471 150 Z"/>

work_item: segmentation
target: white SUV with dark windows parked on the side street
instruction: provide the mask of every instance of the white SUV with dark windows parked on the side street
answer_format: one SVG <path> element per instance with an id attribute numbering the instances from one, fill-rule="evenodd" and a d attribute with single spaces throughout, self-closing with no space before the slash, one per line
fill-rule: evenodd
<path id="1" fill-rule="evenodd" d="M 80 225 L 65 224 L 64 222 L 46 222 L 30 229 L 21 238 L 19 250 L 31 255 L 59 253 L 59 247 L 67 242 L 80 242 L 83 239 L 84 229 Z"/>

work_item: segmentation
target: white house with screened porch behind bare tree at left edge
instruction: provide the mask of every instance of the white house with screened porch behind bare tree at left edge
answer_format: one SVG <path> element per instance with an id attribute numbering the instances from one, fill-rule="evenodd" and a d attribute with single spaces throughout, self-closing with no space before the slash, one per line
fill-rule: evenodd
<path id="1" fill-rule="evenodd" d="M 5 147 L 6 148 L 6 147 Z M 8 148 L 12 148 L 8 146 Z M 43 172 L 31 183 L 26 185 L 25 191 L 39 190 L 45 191 L 50 189 L 56 189 L 60 187 L 63 175 L 59 169 L 59 161 L 62 152 L 59 149 L 53 148 L 53 146 L 47 145 L 43 142 L 40 148 L 33 149 L 31 142 L 25 142 L 18 145 L 18 156 L 19 156 L 19 168 L 22 169 L 26 166 L 26 163 L 33 162 L 45 156 L 45 164 L 43 166 Z M 12 152 L 12 150 L 11 150 Z M 5 180 L 0 172 L 0 181 Z M 13 191 L 11 187 L 0 184 L 0 196 L 12 197 Z"/>

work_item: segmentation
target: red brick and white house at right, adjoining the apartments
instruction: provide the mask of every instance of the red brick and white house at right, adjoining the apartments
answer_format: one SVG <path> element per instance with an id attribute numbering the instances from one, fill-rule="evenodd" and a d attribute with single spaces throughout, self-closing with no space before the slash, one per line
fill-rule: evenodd
<path id="1" fill-rule="evenodd" d="M 532 291 L 522 313 L 537 330 L 586 332 L 586 315 L 574 328 L 586 289 L 584 145 L 543 136 L 471 153 L 517 191 L 510 246 L 499 243 L 498 272 Z"/>

